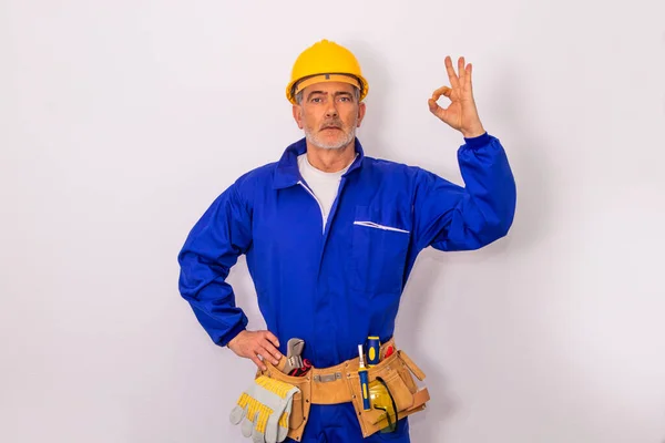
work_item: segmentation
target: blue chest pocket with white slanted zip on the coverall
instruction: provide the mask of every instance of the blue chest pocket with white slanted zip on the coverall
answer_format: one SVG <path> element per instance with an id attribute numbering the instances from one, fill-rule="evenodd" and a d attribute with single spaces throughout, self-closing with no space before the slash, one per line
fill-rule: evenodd
<path id="1" fill-rule="evenodd" d="M 351 235 L 351 289 L 398 293 L 409 249 L 410 217 L 395 207 L 356 207 Z"/>

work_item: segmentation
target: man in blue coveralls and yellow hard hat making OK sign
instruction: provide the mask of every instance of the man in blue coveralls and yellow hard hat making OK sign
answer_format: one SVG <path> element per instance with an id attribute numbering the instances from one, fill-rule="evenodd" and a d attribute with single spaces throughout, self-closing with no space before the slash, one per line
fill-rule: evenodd
<path id="1" fill-rule="evenodd" d="M 480 122 L 471 64 L 460 58 L 457 74 L 447 56 L 446 68 L 451 85 L 428 104 L 464 138 L 458 159 L 466 187 L 366 156 L 356 128 L 368 82 L 357 59 L 327 40 L 298 56 L 286 95 L 305 137 L 224 190 L 178 256 L 181 293 L 215 343 L 252 359 L 262 373 L 284 361 L 291 338 L 305 341 L 301 357 L 315 368 L 349 362 L 368 336 L 392 338 L 402 289 L 423 248 L 478 249 L 508 233 L 515 184 L 505 152 Z M 441 95 L 451 101 L 446 109 L 437 104 Z M 268 330 L 246 329 L 225 281 L 241 254 Z M 362 439 L 361 412 L 349 402 L 307 408 L 301 442 L 385 439 Z M 409 441 L 408 419 L 390 439 Z"/>

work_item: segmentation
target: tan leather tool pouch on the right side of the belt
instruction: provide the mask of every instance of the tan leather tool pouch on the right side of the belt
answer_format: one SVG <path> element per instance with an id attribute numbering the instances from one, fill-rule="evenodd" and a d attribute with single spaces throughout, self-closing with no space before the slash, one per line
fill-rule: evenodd
<path id="1" fill-rule="evenodd" d="M 430 399 L 427 388 L 419 389 L 413 380 L 413 375 L 416 375 L 418 380 L 422 381 L 424 373 L 403 351 L 397 351 L 379 364 L 369 368 L 367 374 L 370 383 L 377 378 L 381 378 L 386 382 L 395 400 L 399 420 L 422 411 L 426 408 L 426 402 Z M 362 436 L 368 437 L 386 427 L 388 423 L 383 411 L 376 409 L 365 411 L 362 409 L 362 393 L 358 372 L 352 372 L 348 377 L 348 383 Z"/>

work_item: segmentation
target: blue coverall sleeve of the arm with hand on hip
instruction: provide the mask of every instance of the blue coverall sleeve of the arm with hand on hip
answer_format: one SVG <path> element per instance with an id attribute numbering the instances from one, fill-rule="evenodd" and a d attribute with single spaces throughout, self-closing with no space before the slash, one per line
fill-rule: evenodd
<path id="1" fill-rule="evenodd" d="M 226 278 L 252 244 L 252 212 L 237 182 L 222 193 L 192 228 L 177 259 L 178 289 L 213 341 L 226 346 L 247 327 Z"/>

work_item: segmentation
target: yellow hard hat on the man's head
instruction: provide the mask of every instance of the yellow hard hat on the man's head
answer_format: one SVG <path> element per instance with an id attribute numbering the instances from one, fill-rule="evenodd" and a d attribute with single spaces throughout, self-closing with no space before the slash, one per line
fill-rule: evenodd
<path id="1" fill-rule="evenodd" d="M 286 86 L 286 97 L 296 104 L 296 94 L 318 82 L 345 82 L 360 90 L 364 100 L 369 90 L 362 76 L 360 63 L 348 49 L 321 40 L 298 55 L 291 70 L 291 80 Z"/>

